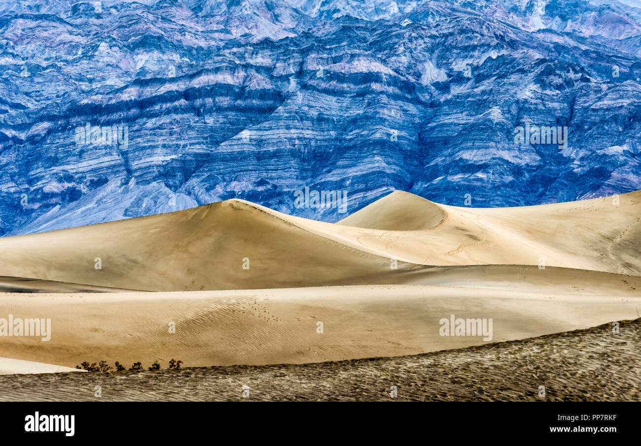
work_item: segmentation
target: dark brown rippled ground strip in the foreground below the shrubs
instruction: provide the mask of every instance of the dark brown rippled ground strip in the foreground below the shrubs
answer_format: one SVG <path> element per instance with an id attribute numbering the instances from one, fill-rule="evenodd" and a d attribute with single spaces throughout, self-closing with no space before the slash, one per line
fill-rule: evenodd
<path id="1" fill-rule="evenodd" d="M 637 319 L 398 358 L 0 376 L 0 400 L 641 401 L 640 347 Z"/>

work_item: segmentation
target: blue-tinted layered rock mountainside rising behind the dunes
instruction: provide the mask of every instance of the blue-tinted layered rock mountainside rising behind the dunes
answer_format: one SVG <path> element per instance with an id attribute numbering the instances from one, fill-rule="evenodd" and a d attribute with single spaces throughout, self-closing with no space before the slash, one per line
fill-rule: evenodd
<path id="1" fill-rule="evenodd" d="M 30 0 L 0 14 L 3 235 L 228 198 L 337 221 L 395 189 L 472 206 L 641 189 L 641 9 L 623 3 Z M 515 139 L 526 124 L 567 141 Z M 295 205 L 306 187 L 346 191 L 347 212 Z"/>

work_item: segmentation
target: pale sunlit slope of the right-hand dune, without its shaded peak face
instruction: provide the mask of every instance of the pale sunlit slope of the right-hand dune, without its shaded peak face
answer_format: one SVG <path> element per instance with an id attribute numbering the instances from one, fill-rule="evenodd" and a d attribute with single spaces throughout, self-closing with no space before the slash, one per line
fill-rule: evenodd
<path id="1" fill-rule="evenodd" d="M 358 225 L 360 212 L 367 219 L 369 207 L 338 222 L 332 231 L 371 250 L 420 264 L 538 266 L 544 259 L 546 266 L 641 275 L 641 192 L 528 207 L 438 207 L 445 219 L 421 231 L 340 228 L 343 223 Z"/>

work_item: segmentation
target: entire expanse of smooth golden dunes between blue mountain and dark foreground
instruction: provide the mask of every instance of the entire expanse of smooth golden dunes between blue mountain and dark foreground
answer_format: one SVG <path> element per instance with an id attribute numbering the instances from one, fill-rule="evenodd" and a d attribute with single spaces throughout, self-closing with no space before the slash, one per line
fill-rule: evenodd
<path id="1" fill-rule="evenodd" d="M 480 209 L 397 191 L 338 223 L 227 200 L 6 237 L 0 291 L 40 294 L 0 294 L 0 318 L 53 328 L 3 338 L 3 355 L 302 363 L 588 328 L 639 317 L 640 241 L 641 192 Z M 451 314 L 493 319 L 492 340 L 440 335 Z"/>

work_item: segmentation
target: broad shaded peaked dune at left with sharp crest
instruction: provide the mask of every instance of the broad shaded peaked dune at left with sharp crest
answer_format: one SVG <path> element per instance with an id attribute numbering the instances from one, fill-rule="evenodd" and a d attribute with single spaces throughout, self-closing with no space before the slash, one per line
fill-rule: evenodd
<path id="1" fill-rule="evenodd" d="M 146 291 L 368 283 L 394 273 L 389 259 L 238 200 L 9 237 L 0 250 L 3 275 Z"/>

